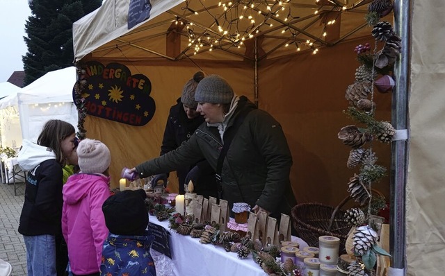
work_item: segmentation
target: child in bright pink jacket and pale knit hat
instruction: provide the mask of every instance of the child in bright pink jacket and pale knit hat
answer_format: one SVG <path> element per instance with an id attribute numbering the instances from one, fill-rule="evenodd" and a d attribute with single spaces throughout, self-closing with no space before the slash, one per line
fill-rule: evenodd
<path id="1" fill-rule="evenodd" d="M 110 150 L 101 141 L 84 139 L 77 147 L 80 173 L 63 186 L 62 232 L 74 275 L 99 275 L 102 244 L 108 229 L 102 204 L 110 196 Z"/>

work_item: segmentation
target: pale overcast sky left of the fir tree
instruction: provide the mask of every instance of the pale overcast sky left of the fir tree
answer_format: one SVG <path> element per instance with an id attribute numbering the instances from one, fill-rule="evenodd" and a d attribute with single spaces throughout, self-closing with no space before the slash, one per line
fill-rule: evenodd
<path id="1" fill-rule="evenodd" d="M 28 51 L 23 37 L 30 15 L 28 0 L 0 0 L 0 83 L 23 70 L 22 55 Z"/>

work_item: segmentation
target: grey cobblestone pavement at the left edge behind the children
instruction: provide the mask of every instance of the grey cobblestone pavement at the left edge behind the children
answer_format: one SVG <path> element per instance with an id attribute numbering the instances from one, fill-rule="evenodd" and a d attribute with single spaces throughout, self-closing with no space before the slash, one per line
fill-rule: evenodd
<path id="1" fill-rule="evenodd" d="M 22 235 L 17 232 L 24 200 L 24 184 L 0 183 L 0 259 L 13 266 L 12 276 L 26 275 L 26 248 Z"/>

